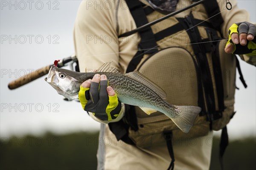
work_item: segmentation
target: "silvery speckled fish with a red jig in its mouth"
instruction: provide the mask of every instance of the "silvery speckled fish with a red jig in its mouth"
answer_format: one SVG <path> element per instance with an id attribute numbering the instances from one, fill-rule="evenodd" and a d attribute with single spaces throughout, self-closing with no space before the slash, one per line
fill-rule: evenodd
<path id="1" fill-rule="evenodd" d="M 160 86 L 138 71 L 122 74 L 111 67 L 111 62 L 104 63 L 96 72 L 74 72 L 52 66 L 45 81 L 56 89 L 58 94 L 73 100 L 78 99 L 80 85 L 92 79 L 95 74 L 107 76 L 108 85 L 114 89 L 122 103 L 140 106 L 148 115 L 157 111 L 162 112 L 184 133 L 189 132 L 195 118 L 201 112 L 201 107 L 169 104 L 164 100 L 166 92 Z"/>

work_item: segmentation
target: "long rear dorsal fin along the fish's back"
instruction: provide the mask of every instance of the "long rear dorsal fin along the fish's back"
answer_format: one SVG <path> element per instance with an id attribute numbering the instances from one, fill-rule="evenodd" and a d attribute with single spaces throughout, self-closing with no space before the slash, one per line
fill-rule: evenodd
<path id="1" fill-rule="evenodd" d="M 158 86 L 157 84 L 146 78 L 144 75 L 142 75 L 140 72 L 128 72 L 125 75 L 129 78 L 139 81 L 140 83 L 144 84 L 145 86 L 153 90 L 155 93 L 157 93 L 157 95 L 159 95 L 161 98 L 166 99 L 166 92 L 163 91 L 163 89 L 160 86 Z"/>

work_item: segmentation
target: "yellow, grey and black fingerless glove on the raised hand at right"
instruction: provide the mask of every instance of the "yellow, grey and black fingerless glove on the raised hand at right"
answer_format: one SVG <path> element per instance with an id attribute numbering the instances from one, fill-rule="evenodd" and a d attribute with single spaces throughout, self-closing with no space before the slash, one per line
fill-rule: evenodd
<path id="1" fill-rule="evenodd" d="M 247 43 L 246 45 L 241 45 L 239 42 L 233 42 L 231 35 L 233 33 L 237 33 L 240 36 L 241 39 L 241 34 L 245 33 L 247 35 L 252 35 L 254 37 L 253 40 L 248 40 L 247 37 Z M 256 26 L 248 23 L 248 22 L 241 22 L 241 23 L 234 23 L 232 26 L 229 28 L 229 40 L 227 41 L 226 47 L 228 44 L 233 45 L 233 54 L 239 54 L 239 55 L 256 55 Z"/>

